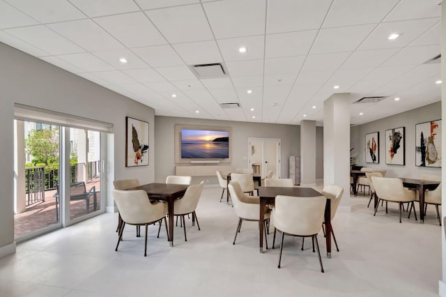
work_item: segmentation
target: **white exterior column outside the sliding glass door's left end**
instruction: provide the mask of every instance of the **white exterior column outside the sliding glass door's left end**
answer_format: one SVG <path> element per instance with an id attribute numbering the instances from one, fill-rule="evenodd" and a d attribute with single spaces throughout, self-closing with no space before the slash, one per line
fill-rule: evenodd
<path id="1" fill-rule="evenodd" d="M 14 213 L 17 214 L 26 209 L 24 121 L 14 121 L 14 135 Z"/>

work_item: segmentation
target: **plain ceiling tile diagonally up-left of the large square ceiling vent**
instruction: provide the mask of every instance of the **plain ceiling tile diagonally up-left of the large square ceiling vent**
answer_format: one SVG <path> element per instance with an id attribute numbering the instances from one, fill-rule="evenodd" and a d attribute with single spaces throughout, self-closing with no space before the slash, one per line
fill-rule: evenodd
<path id="1" fill-rule="evenodd" d="M 170 45 L 138 47 L 132 51 L 152 67 L 184 65 L 183 60 Z"/>

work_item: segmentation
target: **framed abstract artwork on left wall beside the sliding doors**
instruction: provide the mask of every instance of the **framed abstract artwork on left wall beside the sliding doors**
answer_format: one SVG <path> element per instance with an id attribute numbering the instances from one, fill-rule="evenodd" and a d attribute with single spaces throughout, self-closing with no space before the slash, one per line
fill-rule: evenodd
<path id="1" fill-rule="evenodd" d="M 125 167 L 148 165 L 148 123 L 125 117 Z"/>

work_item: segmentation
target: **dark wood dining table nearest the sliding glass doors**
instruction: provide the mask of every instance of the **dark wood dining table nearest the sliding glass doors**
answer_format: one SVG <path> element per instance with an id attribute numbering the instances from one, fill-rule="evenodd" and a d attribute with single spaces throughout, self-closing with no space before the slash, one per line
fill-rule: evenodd
<path id="1" fill-rule="evenodd" d="M 174 202 L 183 197 L 189 185 L 177 185 L 174 183 L 148 183 L 128 190 L 144 190 L 150 199 L 167 201 L 169 215 L 169 243 L 174 246 Z"/>

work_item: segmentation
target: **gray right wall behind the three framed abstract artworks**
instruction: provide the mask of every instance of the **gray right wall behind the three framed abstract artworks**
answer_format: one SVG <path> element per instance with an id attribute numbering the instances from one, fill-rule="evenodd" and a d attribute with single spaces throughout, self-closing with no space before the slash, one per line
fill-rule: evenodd
<path id="1" fill-rule="evenodd" d="M 357 165 L 387 170 L 387 177 L 419 178 L 420 174 L 441 174 L 441 168 L 415 166 L 415 124 L 441 119 L 441 102 L 426 105 L 385 119 L 351 128 L 351 147 L 357 150 Z M 406 127 L 406 165 L 385 164 L 385 130 Z M 379 164 L 365 162 L 365 135 L 379 132 Z"/>

